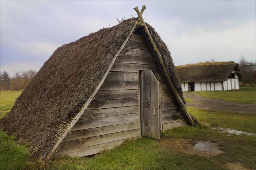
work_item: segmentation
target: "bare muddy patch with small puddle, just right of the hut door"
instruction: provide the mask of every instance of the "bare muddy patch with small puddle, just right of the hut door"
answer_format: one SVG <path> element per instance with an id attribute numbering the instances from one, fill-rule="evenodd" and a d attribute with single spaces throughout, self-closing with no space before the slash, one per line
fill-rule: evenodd
<path id="1" fill-rule="evenodd" d="M 200 140 L 162 138 L 159 140 L 160 147 L 171 151 L 183 152 L 202 157 L 211 157 L 221 154 L 218 143 Z"/>

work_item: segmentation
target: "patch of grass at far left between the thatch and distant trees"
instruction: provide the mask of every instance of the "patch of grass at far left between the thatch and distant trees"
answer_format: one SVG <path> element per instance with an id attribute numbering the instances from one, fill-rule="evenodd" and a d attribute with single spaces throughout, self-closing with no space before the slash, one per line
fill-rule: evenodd
<path id="1" fill-rule="evenodd" d="M 15 98 L 19 97 L 21 92 L 22 90 L 0 92 L 0 119 L 11 111 Z"/>

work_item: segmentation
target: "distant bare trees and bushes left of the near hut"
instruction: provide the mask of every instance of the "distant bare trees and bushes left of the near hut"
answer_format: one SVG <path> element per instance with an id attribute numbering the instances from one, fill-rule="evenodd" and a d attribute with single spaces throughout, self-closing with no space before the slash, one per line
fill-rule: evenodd
<path id="1" fill-rule="evenodd" d="M 0 74 L 0 90 L 23 90 L 35 77 L 37 71 L 35 70 L 27 70 L 21 72 L 15 72 L 13 77 L 10 77 L 7 72 L 3 72 Z"/>

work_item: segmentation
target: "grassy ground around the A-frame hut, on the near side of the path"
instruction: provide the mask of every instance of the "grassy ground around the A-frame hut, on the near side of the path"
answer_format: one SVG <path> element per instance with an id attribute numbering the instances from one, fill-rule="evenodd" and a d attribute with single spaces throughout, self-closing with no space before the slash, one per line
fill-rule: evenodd
<path id="1" fill-rule="evenodd" d="M 20 92 L 1 93 L 4 116 Z M 2 98 L 3 97 L 3 98 Z M 29 159 L 28 144 L 13 140 L 1 130 L 0 169 L 256 169 L 256 136 L 219 133 L 212 128 L 230 128 L 255 133 L 255 115 L 188 108 L 203 127 L 184 126 L 163 132 L 160 141 L 140 138 L 91 157 L 58 158 L 51 162 Z M 193 141 L 216 143 L 218 155 L 192 154 Z M 166 147 L 167 146 L 167 147 Z"/>

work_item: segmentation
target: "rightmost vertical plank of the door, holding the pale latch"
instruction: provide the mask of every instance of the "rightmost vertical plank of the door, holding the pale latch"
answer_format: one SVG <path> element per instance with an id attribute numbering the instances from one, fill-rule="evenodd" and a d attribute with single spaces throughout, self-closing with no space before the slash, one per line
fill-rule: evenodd
<path id="1" fill-rule="evenodd" d="M 150 71 L 150 94 L 151 94 L 151 137 L 160 139 L 160 132 L 159 132 L 159 119 L 160 119 L 160 112 L 159 112 L 159 82 L 157 78 L 154 76 L 154 73 Z M 154 113 L 156 113 L 154 115 Z"/>

